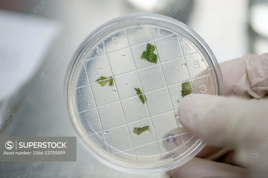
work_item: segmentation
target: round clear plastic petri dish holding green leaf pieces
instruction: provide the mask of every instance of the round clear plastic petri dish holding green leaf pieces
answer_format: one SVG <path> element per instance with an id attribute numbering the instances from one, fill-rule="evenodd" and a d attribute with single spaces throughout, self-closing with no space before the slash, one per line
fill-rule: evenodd
<path id="1" fill-rule="evenodd" d="M 65 109 L 79 140 L 103 164 L 165 171 L 206 144 L 180 124 L 178 103 L 191 92 L 221 95 L 221 86 L 216 58 L 196 32 L 167 16 L 131 14 L 80 44 L 66 73 Z"/>

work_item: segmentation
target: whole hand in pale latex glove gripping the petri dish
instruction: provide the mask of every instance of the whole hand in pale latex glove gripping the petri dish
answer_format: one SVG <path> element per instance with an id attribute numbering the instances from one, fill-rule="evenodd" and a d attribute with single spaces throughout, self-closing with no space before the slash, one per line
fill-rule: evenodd
<path id="1" fill-rule="evenodd" d="M 221 162 L 195 157 L 172 170 L 173 178 L 268 177 L 268 53 L 246 55 L 220 68 L 225 97 L 187 95 L 178 115 L 185 129 L 234 152 Z"/>

